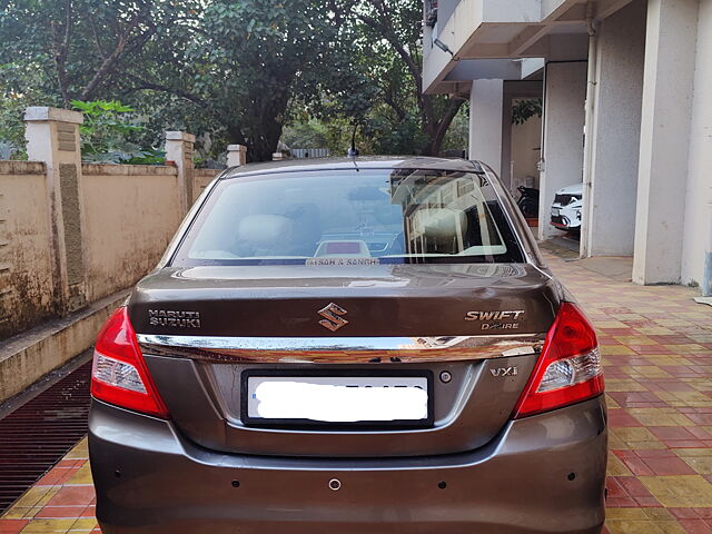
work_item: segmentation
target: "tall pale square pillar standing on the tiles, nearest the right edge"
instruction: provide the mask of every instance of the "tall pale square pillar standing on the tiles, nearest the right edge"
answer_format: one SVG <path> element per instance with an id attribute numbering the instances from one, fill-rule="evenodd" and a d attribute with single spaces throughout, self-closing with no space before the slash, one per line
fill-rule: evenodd
<path id="1" fill-rule="evenodd" d="M 647 3 L 633 258 L 637 284 L 681 279 L 698 8 L 692 0 Z"/>

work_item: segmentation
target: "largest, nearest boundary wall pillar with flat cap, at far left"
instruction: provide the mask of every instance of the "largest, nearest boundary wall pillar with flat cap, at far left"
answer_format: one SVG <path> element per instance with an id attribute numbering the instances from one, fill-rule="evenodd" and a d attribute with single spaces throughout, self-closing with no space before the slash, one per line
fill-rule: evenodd
<path id="1" fill-rule="evenodd" d="M 52 236 L 52 263 L 59 315 L 86 304 L 81 142 L 83 117 L 69 109 L 30 107 L 24 112 L 27 155 L 43 161 L 50 195 L 48 221 Z"/>

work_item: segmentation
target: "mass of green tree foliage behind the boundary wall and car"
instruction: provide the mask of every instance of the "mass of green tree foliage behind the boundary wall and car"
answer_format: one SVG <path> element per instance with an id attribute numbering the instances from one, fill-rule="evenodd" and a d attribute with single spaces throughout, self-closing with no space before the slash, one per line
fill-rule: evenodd
<path id="1" fill-rule="evenodd" d="M 80 101 L 97 160 L 134 161 L 166 129 L 206 160 L 235 142 L 264 160 L 288 123 L 335 154 L 354 125 L 363 154 L 437 154 L 462 101 L 421 93 L 421 18 L 419 0 L 8 0 L 0 140 L 21 151 L 27 105 Z"/>

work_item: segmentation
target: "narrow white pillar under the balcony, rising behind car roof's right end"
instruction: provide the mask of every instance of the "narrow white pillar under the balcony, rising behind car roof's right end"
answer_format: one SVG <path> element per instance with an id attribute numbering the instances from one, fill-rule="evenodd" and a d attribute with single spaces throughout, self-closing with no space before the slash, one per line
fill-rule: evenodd
<path id="1" fill-rule="evenodd" d="M 474 80 L 469 92 L 469 159 L 487 164 L 502 175 L 504 82 Z"/>

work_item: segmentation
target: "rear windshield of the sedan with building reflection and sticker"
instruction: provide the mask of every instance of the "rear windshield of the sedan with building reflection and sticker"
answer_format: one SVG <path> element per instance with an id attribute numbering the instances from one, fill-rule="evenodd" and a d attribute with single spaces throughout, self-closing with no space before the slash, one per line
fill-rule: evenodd
<path id="1" fill-rule="evenodd" d="M 171 264 L 518 261 L 484 175 L 354 169 L 221 180 Z"/>

